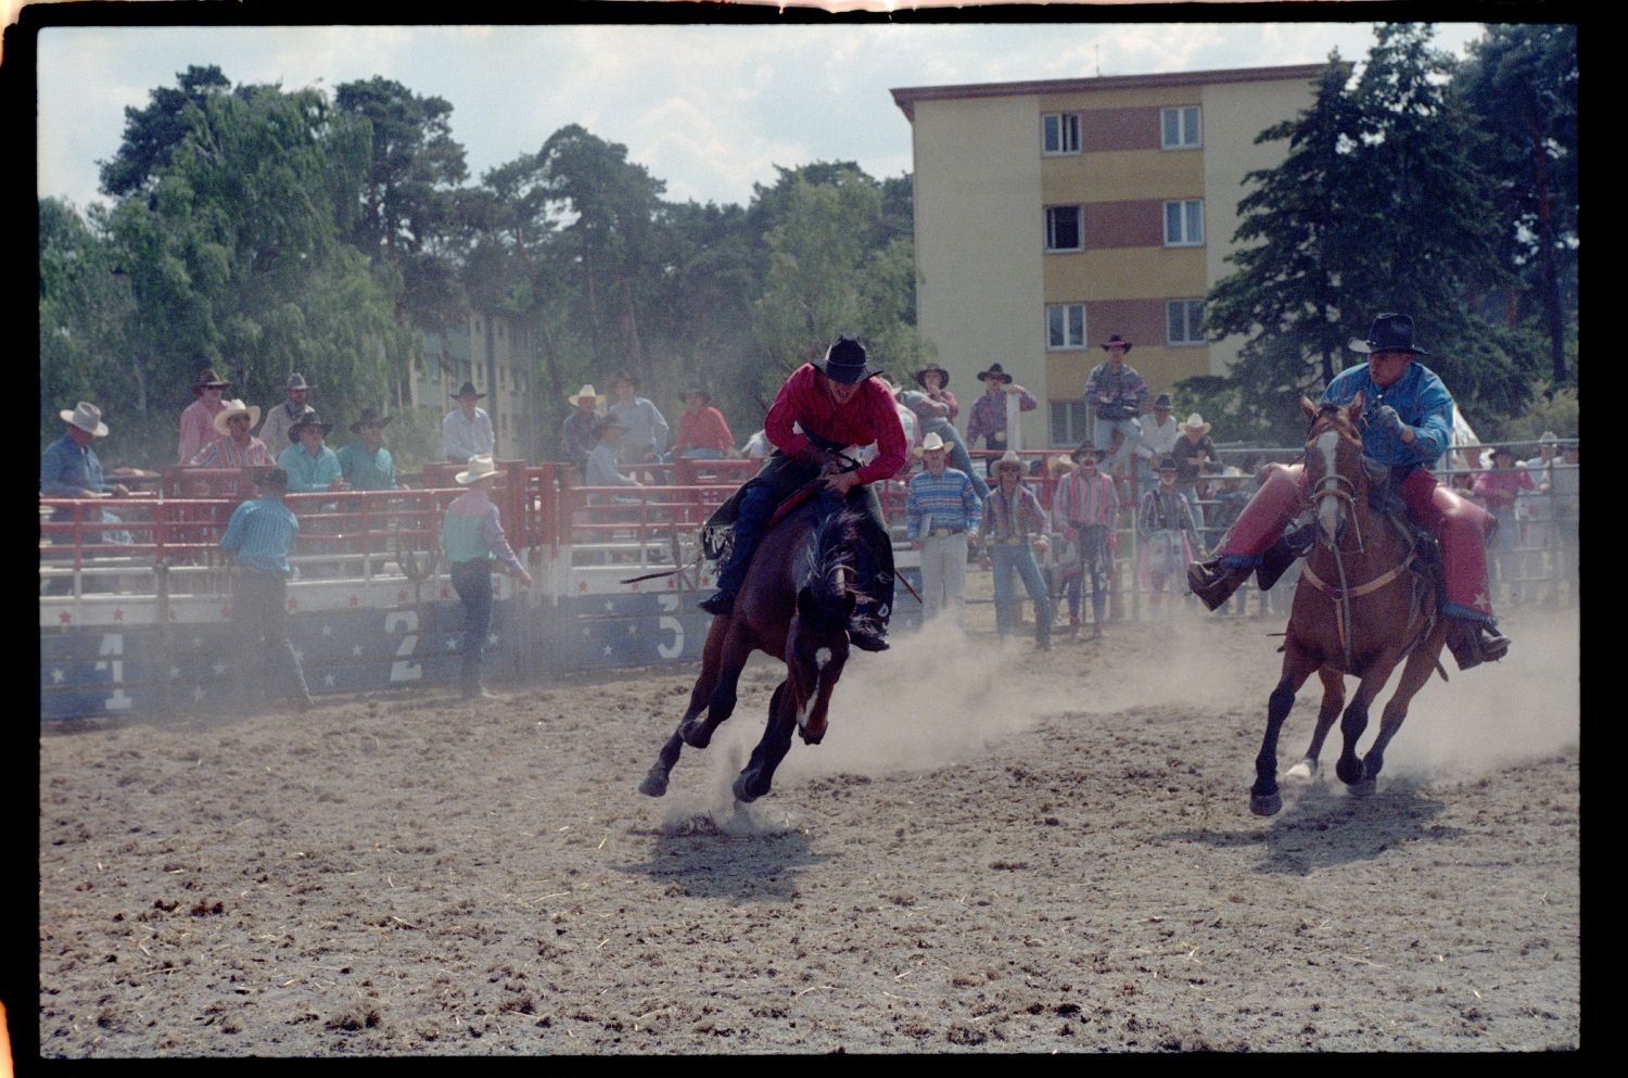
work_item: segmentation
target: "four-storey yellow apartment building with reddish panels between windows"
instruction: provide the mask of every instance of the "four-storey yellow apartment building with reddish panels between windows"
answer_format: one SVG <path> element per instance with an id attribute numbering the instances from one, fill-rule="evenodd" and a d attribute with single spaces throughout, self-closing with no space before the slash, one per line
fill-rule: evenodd
<path id="1" fill-rule="evenodd" d="M 1309 107 L 1322 70 L 894 90 L 915 153 L 917 322 L 962 401 L 998 362 L 1042 401 L 1022 445 L 1073 446 L 1112 334 L 1153 392 L 1224 373 L 1242 339 L 1203 339 L 1203 296 L 1232 270 L 1244 176 L 1288 151 L 1255 137 Z"/>

